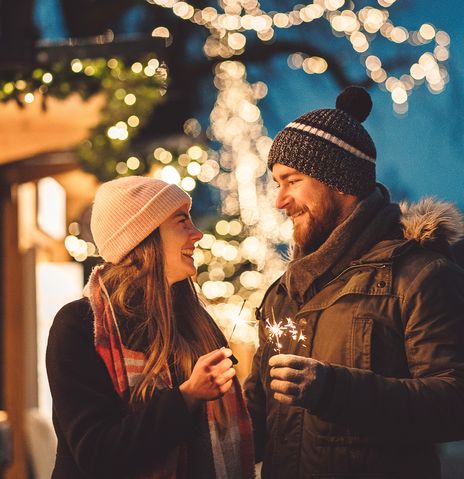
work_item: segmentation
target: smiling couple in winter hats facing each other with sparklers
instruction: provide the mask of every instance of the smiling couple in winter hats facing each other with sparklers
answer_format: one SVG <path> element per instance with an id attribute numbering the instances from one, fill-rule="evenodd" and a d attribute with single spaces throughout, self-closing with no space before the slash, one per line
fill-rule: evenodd
<path id="1" fill-rule="evenodd" d="M 103 184 L 91 228 L 105 260 L 50 331 L 54 479 L 438 478 L 434 443 L 464 437 L 464 272 L 449 205 L 411 208 L 375 182 L 351 87 L 280 132 L 269 167 L 294 257 L 257 311 L 245 383 L 190 277 L 202 233 L 175 185 Z M 305 344 L 275 354 L 264 319 Z M 251 421 L 250 421 L 251 418 Z"/>

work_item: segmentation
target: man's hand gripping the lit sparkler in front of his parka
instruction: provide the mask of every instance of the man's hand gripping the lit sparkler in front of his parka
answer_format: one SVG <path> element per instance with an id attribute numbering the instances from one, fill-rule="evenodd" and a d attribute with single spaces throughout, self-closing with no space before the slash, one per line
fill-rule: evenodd
<path id="1" fill-rule="evenodd" d="M 277 401 L 310 412 L 316 407 L 326 383 L 326 365 L 312 358 L 277 354 L 271 357 L 269 366 L 271 389 Z"/>

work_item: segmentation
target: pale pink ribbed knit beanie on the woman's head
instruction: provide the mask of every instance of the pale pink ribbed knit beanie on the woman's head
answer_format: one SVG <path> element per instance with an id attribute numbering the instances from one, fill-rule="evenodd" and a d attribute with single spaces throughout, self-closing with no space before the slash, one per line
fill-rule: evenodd
<path id="1" fill-rule="evenodd" d="M 93 203 L 90 229 L 100 256 L 119 263 L 190 196 L 176 185 L 144 176 L 103 183 Z"/>

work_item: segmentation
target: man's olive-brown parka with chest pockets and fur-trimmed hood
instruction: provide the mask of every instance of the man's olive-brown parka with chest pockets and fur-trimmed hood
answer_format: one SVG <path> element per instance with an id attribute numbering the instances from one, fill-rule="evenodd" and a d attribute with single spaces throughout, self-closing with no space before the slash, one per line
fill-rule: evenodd
<path id="1" fill-rule="evenodd" d="M 311 255 L 290 262 L 258 309 L 245 394 L 263 479 L 435 479 L 434 444 L 464 439 L 464 271 L 448 245 L 462 217 L 432 200 L 400 212 L 388 198 L 376 215 L 375 244 L 348 251 L 336 274 L 315 274 Z M 276 347 L 265 320 L 287 317 L 305 339 L 284 334 L 280 352 L 327 368 L 311 412 L 279 403 L 269 388 Z"/>

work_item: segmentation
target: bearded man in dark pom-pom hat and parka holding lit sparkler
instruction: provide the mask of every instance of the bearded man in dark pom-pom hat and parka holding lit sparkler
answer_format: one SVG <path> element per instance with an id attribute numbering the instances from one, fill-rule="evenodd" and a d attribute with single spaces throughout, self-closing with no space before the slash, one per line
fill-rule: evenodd
<path id="1" fill-rule="evenodd" d="M 258 309 L 245 384 L 264 479 L 439 478 L 434 443 L 464 438 L 462 217 L 390 202 L 361 125 L 371 107 L 351 87 L 271 147 L 295 248 Z M 266 320 L 287 318 L 298 334 L 277 345 Z"/>

